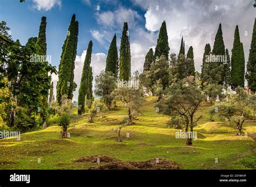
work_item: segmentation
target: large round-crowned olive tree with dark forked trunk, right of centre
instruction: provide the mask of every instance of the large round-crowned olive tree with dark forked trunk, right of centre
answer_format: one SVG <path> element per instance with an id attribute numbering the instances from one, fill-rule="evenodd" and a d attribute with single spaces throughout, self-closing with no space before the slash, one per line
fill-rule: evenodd
<path id="1" fill-rule="evenodd" d="M 178 80 L 165 90 L 164 99 L 156 103 L 156 106 L 159 112 L 170 116 L 173 123 L 175 121 L 175 126 L 184 126 L 187 135 L 193 134 L 193 126 L 202 117 L 194 119 L 194 114 L 204 98 L 204 93 L 196 83 L 188 84 L 186 80 Z M 192 145 L 191 136 L 186 136 L 186 145 Z"/>

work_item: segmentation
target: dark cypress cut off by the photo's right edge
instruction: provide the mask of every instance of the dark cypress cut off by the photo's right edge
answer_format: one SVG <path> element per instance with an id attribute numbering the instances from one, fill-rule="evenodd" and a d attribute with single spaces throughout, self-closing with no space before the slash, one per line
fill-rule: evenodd
<path id="1" fill-rule="evenodd" d="M 248 81 L 248 87 L 252 92 L 256 92 L 256 18 L 254 19 L 251 49 L 246 67 L 246 79 Z"/>

